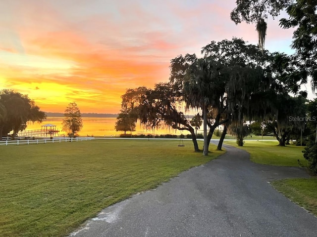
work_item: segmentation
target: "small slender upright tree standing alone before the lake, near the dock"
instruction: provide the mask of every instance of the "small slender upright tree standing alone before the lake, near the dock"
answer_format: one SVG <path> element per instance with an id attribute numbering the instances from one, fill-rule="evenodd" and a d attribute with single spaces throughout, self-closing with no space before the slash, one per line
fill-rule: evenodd
<path id="1" fill-rule="evenodd" d="M 83 127 L 80 110 L 76 103 L 69 103 L 64 112 L 63 131 L 68 133 L 69 137 L 74 137 Z"/>

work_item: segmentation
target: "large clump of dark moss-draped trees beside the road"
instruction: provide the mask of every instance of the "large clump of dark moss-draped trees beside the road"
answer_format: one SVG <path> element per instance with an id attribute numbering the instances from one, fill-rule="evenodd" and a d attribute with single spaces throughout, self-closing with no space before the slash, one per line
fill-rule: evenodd
<path id="1" fill-rule="evenodd" d="M 202 112 L 204 155 L 208 155 L 216 127 L 224 126 L 219 150 L 227 131 L 235 135 L 242 146 L 250 132 L 246 122 L 252 120 L 267 124 L 273 121 L 269 125 L 284 146 L 288 126 L 298 125 L 286 121 L 287 116 L 305 113 L 302 108 L 306 96 L 299 93 L 299 89 L 307 75 L 293 56 L 261 50 L 237 38 L 211 41 L 202 48 L 202 55 L 198 58 L 195 54 L 186 54 L 172 59 L 169 82 L 158 83 L 154 89 L 128 89 L 122 96 L 122 111 L 147 127 L 163 124 L 188 130 L 195 151 L 199 151 L 194 129 L 197 124 L 185 118 L 186 109 L 182 105 Z"/>

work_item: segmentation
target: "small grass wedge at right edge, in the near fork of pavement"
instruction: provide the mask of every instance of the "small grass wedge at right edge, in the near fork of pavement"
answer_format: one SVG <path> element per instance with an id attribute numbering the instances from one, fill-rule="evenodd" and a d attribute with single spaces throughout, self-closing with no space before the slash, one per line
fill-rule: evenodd
<path id="1" fill-rule="evenodd" d="M 317 215 L 317 177 L 278 180 L 272 185 L 290 200 Z"/>

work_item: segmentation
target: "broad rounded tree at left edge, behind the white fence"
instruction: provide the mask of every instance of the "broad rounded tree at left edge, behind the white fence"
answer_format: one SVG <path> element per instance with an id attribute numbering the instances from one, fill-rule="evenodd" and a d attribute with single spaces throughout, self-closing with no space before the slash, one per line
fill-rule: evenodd
<path id="1" fill-rule="evenodd" d="M 43 111 L 27 95 L 14 90 L 0 91 L 0 140 L 12 131 L 12 138 L 27 127 L 27 122 L 42 122 Z"/>

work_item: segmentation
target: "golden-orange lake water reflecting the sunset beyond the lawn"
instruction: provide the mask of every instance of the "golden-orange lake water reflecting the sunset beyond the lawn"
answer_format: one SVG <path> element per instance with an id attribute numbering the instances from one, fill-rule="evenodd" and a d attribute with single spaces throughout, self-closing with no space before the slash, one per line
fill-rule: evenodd
<path id="1" fill-rule="evenodd" d="M 65 132 L 61 131 L 62 128 L 62 121 L 64 117 L 48 117 L 47 119 L 44 119 L 42 123 L 32 123 L 28 122 L 28 126 L 26 130 L 34 130 L 34 129 L 41 129 L 41 125 L 51 123 L 53 125 L 56 125 L 56 129 L 59 130 L 59 135 L 64 134 Z M 83 119 L 83 128 L 79 132 L 80 136 L 118 136 L 124 132 L 122 131 L 115 131 L 115 122 L 116 118 L 90 118 L 90 117 L 82 117 Z M 127 134 L 130 134 L 129 131 L 127 131 Z M 132 134 L 153 134 L 152 130 L 145 129 L 142 125 L 139 123 L 136 126 L 136 131 L 132 132 Z M 176 129 L 169 129 L 169 128 L 162 128 L 162 129 L 156 129 L 154 131 L 154 134 L 160 135 L 160 134 L 172 134 L 172 135 L 180 135 L 181 132 Z M 183 131 L 183 134 L 188 134 L 187 131 Z"/>

